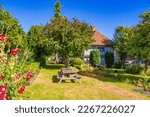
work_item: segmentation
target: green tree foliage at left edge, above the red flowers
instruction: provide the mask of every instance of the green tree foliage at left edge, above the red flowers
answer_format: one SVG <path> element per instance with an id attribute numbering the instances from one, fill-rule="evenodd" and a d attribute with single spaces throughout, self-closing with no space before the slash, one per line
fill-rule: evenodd
<path id="1" fill-rule="evenodd" d="M 25 32 L 8 11 L 0 8 L 0 34 L 5 34 L 9 37 L 9 43 L 7 49 L 14 48 L 26 48 L 27 41 L 25 38 Z"/>

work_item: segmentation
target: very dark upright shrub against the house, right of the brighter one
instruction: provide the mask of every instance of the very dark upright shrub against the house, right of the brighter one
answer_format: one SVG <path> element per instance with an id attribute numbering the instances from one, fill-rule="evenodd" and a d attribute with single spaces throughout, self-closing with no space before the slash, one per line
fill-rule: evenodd
<path id="1" fill-rule="evenodd" d="M 108 68 L 112 67 L 114 64 L 114 55 L 112 52 L 106 52 L 105 61 Z"/>

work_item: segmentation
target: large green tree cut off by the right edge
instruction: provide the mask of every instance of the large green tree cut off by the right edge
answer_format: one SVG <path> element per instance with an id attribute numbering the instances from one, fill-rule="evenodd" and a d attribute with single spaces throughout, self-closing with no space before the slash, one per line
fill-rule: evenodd
<path id="1" fill-rule="evenodd" d="M 131 40 L 128 43 L 128 54 L 145 61 L 145 72 L 150 61 L 150 10 L 140 16 L 142 21 L 132 29 Z"/>

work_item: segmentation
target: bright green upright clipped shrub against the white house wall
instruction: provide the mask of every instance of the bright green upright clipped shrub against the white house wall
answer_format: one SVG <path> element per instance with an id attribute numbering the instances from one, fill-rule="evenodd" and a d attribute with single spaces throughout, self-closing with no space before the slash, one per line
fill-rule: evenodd
<path id="1" fill-rule="evenodd" d="M 90 63 L 92 66 L 100 64 L 100 51 L 92 50 L 90 52 Z"/>

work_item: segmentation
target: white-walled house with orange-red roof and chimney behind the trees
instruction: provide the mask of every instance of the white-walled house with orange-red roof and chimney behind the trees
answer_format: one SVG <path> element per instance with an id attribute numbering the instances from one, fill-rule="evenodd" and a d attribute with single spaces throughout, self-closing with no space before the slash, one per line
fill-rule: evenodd
<path id="1" fill-rule="evenodd" d="M 99 50 L 100 55 L 101 55 L 101 64 L 105 64 L 105 54 L 106 52 L 113 52 L 113 42 L 112 40 L 108 39 L 105 37 L 103 34 L 98 32 L 96 30 L 96 27 L 93 26 L 93 40 L 94 42 L 91 43 L 91 48 L 84 51 L 84 61 L 85 63 L 89 64 L 90 60 L 90 51 L 92 50 Z"/>

